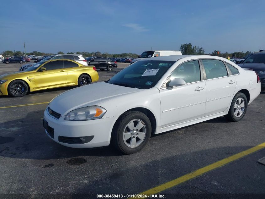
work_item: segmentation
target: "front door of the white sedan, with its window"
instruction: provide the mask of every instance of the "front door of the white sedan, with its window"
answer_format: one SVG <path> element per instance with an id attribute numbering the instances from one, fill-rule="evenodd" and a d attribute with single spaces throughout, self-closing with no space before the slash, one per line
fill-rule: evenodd
<path id="1" fill-rule="evenodd" d="M 161 125 L 164 131 L 167 126 L 204 116 L 206 88 L 200 71 L 198 60 L 185 62 L 173 71 L 167 81 L 181 78 L 186 85 L 168 87 L 166 84 L 160 90 Z"/>

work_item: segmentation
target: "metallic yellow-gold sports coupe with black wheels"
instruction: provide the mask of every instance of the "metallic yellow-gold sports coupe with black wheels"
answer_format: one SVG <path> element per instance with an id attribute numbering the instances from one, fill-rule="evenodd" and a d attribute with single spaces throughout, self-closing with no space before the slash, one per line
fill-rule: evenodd
<path id="1" fill-rule="evenodd" d="M 20 72 L 0 75 L 0 95 L 22 97 L 29 91 L 63 86 L 85 86 L 98 80 L 93 66 L 68 59 L 40 61 Z"/>

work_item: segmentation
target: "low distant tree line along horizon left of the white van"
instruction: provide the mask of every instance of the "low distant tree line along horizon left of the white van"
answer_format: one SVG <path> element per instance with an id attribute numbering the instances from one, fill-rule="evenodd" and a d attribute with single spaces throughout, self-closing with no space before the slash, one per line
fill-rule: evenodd
<path id="1" fill-rule="evenodd" d="M 138 55 L 135 53 L 121 53 L 121 54 L 109 54 L 107 52 L 105 53 L 101 53 L 99 51 L 97 52 L 68 52 L 68 53 L 64 53 L 59 51 L 57 54 L 81 54 L 83 55 L 83 57 L 92 57 L 92 56 L 100 56 L 100 57 L 114 57 L 114 58 L 120 58 L 120 57 L 130 57 L 130 58 L 137 58 Z M 23 55 L 24 52 L 21 51 L 11 51 L 11 50 L 7 50 L 2 52 L 2 55 L 4 57 L 11 57 L 13 55 Z M 49 55 L 54 55 L 54 53 L 42 53 L 42 52 L 38 52 L 38 51 L 33 51 L 33 52 L 29 52 L 27 53 L 27 55 L 37 55 L 37 56 L 49 56 Z"/>

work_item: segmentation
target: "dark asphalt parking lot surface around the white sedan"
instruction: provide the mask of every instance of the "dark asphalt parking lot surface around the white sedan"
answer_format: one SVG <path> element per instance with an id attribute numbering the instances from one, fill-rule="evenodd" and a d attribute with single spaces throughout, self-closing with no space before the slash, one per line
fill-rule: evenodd
<path id="1" fill-rule="evenodd" d="M 0 75 L 18 71 L 22 65 L 1 63 Z M 126 66 L 118 63 L 111 72 L 98 71 L 99 81 Z M 220 117 L 154 135 L 142 151 L 132 155 L 110 146 L 68 148 L 50 140 L 42 118 L 47 106 L 43 102 L 71 88 L 0 97 L 0 193 L 137 194 L 265 142 L 262 92 L 239 122 Z M 265 156 L 264 146 L 181 184 L 165 185 L 161 193 L 265 194 L 265 165 L 257 162 Z"/>

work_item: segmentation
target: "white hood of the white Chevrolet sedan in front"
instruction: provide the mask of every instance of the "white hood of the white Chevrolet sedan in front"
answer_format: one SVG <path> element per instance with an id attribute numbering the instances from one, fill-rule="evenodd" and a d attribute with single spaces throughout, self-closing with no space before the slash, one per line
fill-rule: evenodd
<path id="1" fill-rule="evenodd" d="M 86 106 L 100 105 L 119 95 L 125 95 L 142 89 L 117 86 L 106 82 L 98 82 L 81 86 L 61 93 L 51 100 L 50 108 L 65 116 L 72 110 Z"/>

